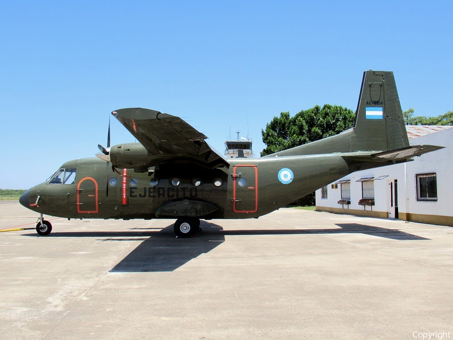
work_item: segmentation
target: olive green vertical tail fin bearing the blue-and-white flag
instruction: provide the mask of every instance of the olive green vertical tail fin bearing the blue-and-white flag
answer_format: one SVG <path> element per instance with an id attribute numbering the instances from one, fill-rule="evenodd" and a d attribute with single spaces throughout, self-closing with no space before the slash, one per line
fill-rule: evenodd
<path id="1" fill-rule="evenodd" d="M 409 147 L 391 71 L 365 71 L 354 126 L 340 134 L 266 156 L 384 152 Z"/>

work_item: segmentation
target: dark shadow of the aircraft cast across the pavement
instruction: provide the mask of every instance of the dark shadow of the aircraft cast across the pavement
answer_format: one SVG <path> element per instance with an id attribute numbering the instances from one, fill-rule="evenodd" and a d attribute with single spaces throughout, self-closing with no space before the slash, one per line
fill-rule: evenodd
<path id="1" fill-rule="evenodd" d="M 225 236 L 247 235 L 307 235 L 307 234 L 364 234 L 392 240 L 428 240 L 397 229 L 386 229 L 356 223 L 336 224 L 336 229 L 271 229 L 223 230 L 214 223 L 201 221 L 202 232 L 195 238 L 175 238 L 173 224 L 159 231 L 81 231 L 52 232 L 47 237 L 101 237 L 101 241 L 143 241 L 110 271 L 111 273 L 173 271 L 193 258 L 208 253 L 225 241 Z M 148 228 L 149 230 L 156 228 Z M 26 234 L 24 236 L 38 236 Z M 107 238 L 107 239 L 105 239 Z"/>

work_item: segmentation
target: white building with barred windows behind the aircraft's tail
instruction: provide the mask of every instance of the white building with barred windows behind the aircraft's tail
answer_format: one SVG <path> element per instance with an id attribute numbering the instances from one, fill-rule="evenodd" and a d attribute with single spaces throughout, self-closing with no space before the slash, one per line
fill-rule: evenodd
<path id="1" fill-rule="evenodd" d="M 316 210 L 453 226 L 453 126 L 406 129 L 410 145 L 445 148 L 347 175 L 316 191 Z"/>

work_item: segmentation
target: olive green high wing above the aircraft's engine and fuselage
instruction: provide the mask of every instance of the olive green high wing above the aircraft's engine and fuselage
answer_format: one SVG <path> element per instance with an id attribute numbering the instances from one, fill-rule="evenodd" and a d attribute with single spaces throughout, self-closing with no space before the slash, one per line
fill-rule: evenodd
<path id="1" fill-rule="evenodd" d="M 210 168 L 230 164 L 206 143 L 207 137 L 183 119 L 143 108 L 112 112 L 152 155 L 171 159 L 193 159 Z"/>

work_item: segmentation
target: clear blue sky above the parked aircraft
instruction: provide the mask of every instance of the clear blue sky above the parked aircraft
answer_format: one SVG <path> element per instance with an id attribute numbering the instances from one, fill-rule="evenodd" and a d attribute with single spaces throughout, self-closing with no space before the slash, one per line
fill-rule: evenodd
<path id="1" fill-rule="evenodd" d="M 355 110 L 362 73 L 393 71 L 403 110 L 453 109 L 451 2 L 87 1 L 0 6 L 0 188 L 29 188 L 106 144 L 108 117 L 183 117 L 218 151 L 264 148 L 281 111 Z M 248 120 L 248 127 L 247 127 Z M 112 145 L 134 142 L 112 120 Z"/>

